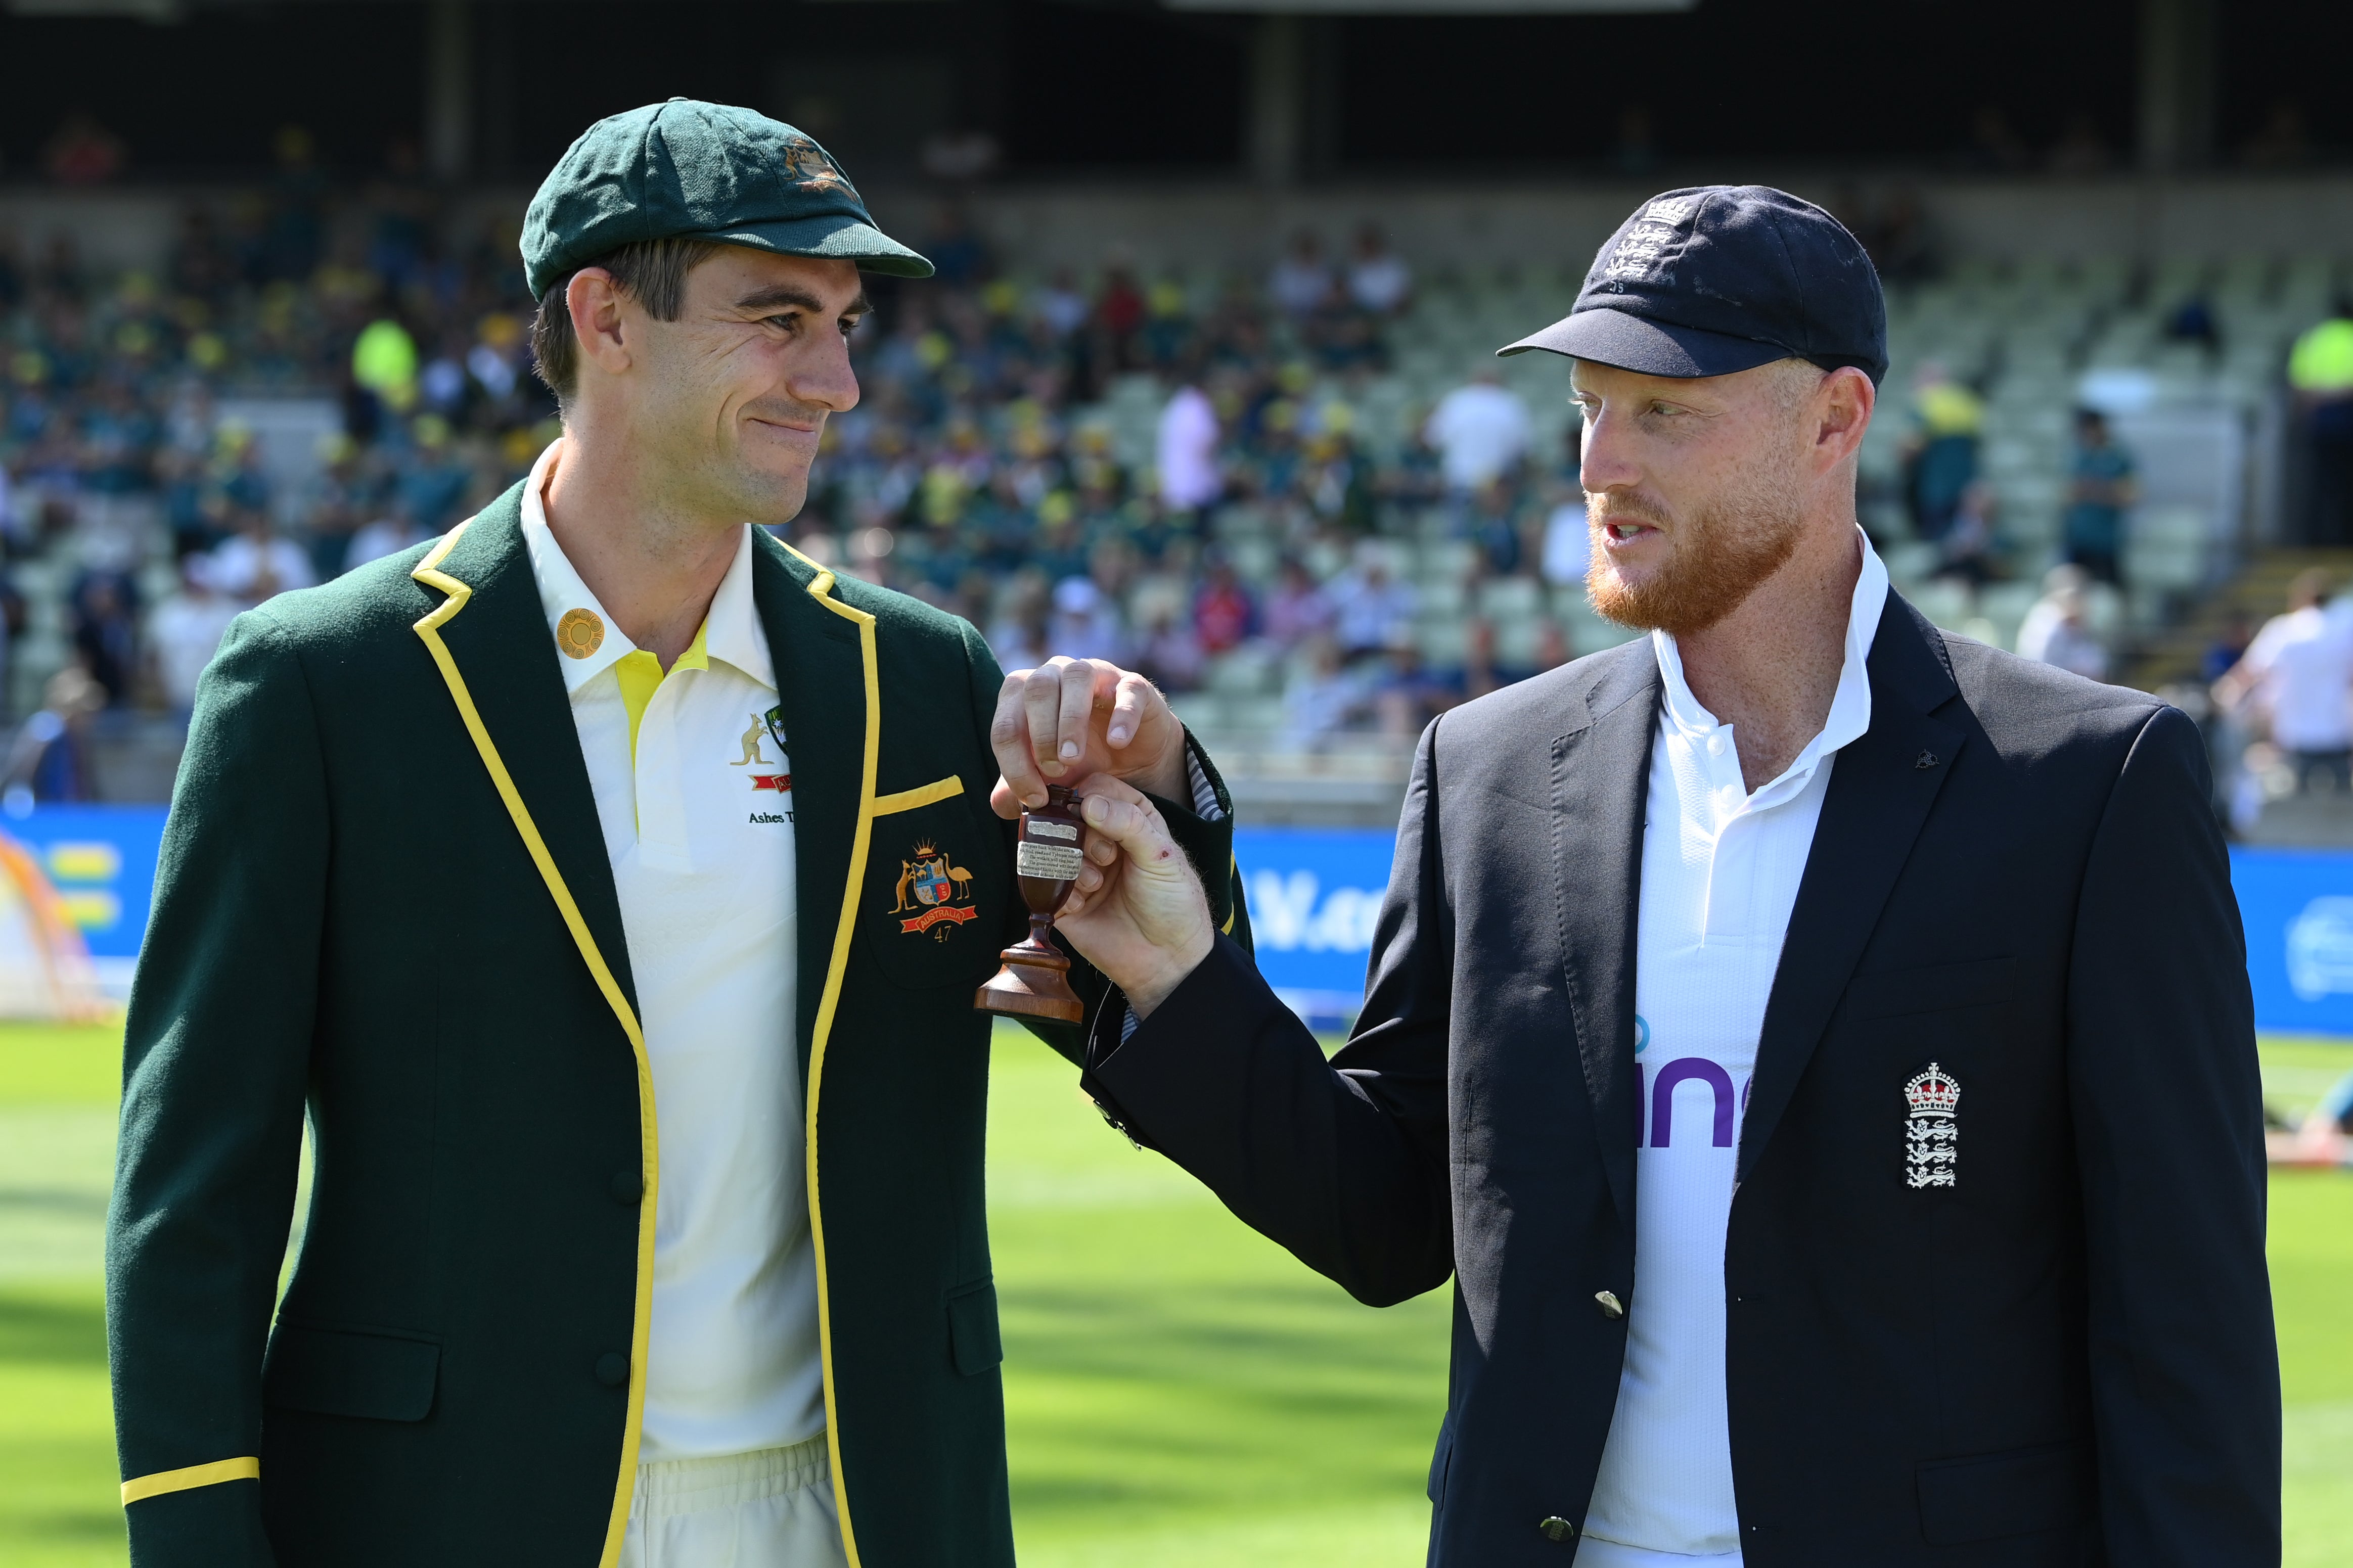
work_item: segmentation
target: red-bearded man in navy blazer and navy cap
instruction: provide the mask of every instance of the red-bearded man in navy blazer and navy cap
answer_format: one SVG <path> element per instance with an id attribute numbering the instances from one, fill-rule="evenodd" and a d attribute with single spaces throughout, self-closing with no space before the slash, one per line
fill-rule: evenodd
<path id="1" fill-rule="evenodd" d="M 1438 719 L 1325 1063 L 1087 788 L 1089 1088 L 1360 1300 L 1454 1279 L 1431 1563 L 2275 1563 L 2245 943 L 2177 710 L 1946 637 L 1854 520 L 1861 247 L 1671 190 L 1574 313 L 1588 588 Z"/>

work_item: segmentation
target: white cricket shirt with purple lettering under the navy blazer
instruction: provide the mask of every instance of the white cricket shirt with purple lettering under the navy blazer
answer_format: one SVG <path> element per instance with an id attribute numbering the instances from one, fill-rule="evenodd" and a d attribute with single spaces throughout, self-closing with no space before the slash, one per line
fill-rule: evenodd
<path id="1" fill-rule="evenodd" d="M 1748 1079 L 1781 938 L 1838 748 L 1871 729 L 1864 661 L 1887 567 L 1861 538 L 1847 658 L 1798 759 L 1748 792 L 1732 726 L 1699 705 L 1675 639 L 1652 632 L 1666 701 L 1649 748 L 1635 936 L 1633 1300 L 1626 1368 L 1579 1568 L 1739 1563 L 1725 1418 L 1725 1225 Z"/>

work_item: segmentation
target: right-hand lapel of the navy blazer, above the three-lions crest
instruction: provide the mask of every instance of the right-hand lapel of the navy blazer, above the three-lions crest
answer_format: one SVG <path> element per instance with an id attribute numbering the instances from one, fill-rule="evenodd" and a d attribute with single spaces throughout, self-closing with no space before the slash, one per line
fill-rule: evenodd
<path id="1" fill-rule="evenodd" d="M 1831 766 L 1831 792 L 1781 940 L 1737 1180 L 1748 1180 L 1788 1110 L 1965 741 L 1932 717 L 1960 693 L 1944 637 L 1892 590 L 1868 672 L 1871 729 L 1840 748 Z"/>

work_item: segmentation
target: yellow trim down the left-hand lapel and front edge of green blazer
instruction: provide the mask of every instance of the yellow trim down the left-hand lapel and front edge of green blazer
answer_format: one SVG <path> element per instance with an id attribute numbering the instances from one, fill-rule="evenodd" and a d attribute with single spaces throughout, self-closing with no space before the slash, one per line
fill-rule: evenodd
<path id="1" fill-rule="evenodd" d="M 473 520 L 468 517 L 466 522 Z M 475 712 L 473 693 L 466 691 L 466 677 L 459 675 L 456 658 L 449 656 L 449 644 L 440 637 L 440 628 L 454 621 L 456 614 L 466 609 L 466 599 L 473 597 L 473 588 L 468 583 L 461 583 L 440 569 L 449 550 L 456 548 L 459 536 L 466 534 L 466 522 L 449 529 L 449 534 L 433 545 L 433 552 L 416 562 L 416 569 L 409 574 L 419 583 L 440 588 L 449 595 L 442 599 L 440 609 L 419 621 L 414 630 L 433 654 L 433 663 L 440 665 L 442 682 L 449 684 L 456 712 L 466 722 L 466 733 L 473 736 L 473 750 L 482 755 L 482 766 L 489 769 L 489 783 L 496 785 L 499 799 L 506 802 L 506 813 L 515 818 L 515 832 L 522 835 L 522 846 L 532 853 L 532 865 L 539 867 L 539 879 L 548 884 L 548 893 L 555 898 L 555 910 L 565 917 L 565 929 L 572 931 L 572 945 L 579 947 L 581 959 L 588 961 L 588 973 L 595 978 L 595 987 L 605 992 L 605 1004 L 612 1006 L 612 1016 L 621 1020 L 621 1032 L 628 1034 L 628 1048 L 638 1058 L 638 1138 L 645 1178 L 645 1192 L 638 1199 L 638 1307 L 635 1326 L 628 1335 L 628 1425 L 621 1432 L 621 1479 L 614 1486 L 612 1519 L 605 1523 L 605 1552 L 598 1559 L 598 1568 L 614 1568 L 621 1561 L 621 1540 L 628 1533 L 628 1502 L 638 1486 L 638 1434 L 645 1420 L 645 1352 L 654 1324 L 654 1192 L 661 1182 L 661 1150 L 656 1143 L 659 1128 L 654 1124 L 654 1067 L 645 1056 L 645 1030 L 638 1027 L 638 1013 L 628 1006 L 628 997 L 621 994 L 621 983 L 612 978 L 605 954 L 598 952 L 595 933 L 591 933 L 588 922 L 581 919 L 581 910 L 572 900 L 572 889 L 565 886 L 562 872 L 555 870 L 555 856 L 548 853 L 546 839 L 539 837 L 539 825 L 532 823 L 532 813 L 522 804 L 522 792 L 515 790 L 515 780 L 508 776 L 506 762 L 499 757 L 499 748 L 489 741 L 489 729 L 482 726 L 482 715 Z M 871 686 L 873 677 L 868 675 L 868 689 Z M 873 748 L 868 745 L 868 757 L 871 755 Z M 871 778 L 873 766 L 868 762 L 868 783 Z M 840 1486 L 840 1481 L 835 1481 L 835 1486 Z"/>

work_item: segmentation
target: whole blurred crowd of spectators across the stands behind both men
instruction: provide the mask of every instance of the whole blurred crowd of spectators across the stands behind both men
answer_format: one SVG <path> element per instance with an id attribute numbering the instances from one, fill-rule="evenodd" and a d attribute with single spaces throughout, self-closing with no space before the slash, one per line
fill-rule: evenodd
<path id="1" fill-rule="evenodd" d="M 120 158 L 87 132 L 52 148 L 59 179 Z M 515 214 L 447 209 L 405 150 L 365 188 L 332 183 L 301 129 L 275 169 L 191 205 L 155 270 L 0 233 L 0 618 L 26 654 L 0 693 L 35 715 L 26 736 L 184 719 L 242 607 L 445 531 L 558 435 Z M 1866 228 L 1892 277 L 1932 270 L 1901 193 Z M 871 280 L 864 400 L 828 423 L 795 548 L 969 618 L 1007 668 L 1104 656 L 1186 693 L 1249 663 L 1278 750 L 1405 741 L 1586 651 L 1572 444 L 1471 364 L 1424 367 L 1402 437 L 1365 440 L 1417 303 L 1379 226 L 1304 230 L 1221 277 L 1120 252 L 1085 277 L 1019 273 L 955 207 L 922 249 L 936 280 Z M 2353 515 L 2353 308 L 2297 353 L 2320 505 Z M 1141 440 L 1115 407 L 1141 411 Z M 1937 576 L 1974 592 L 2042 571 L 2049 552 L 2009 559 L 1995 527 L 1979 390 L 1929 364 L 1882 418 L 1913 428 L 1901 512 Z M 2087 607 L 2118 583 L 2134 456 L 2082 411 L 2068 463 L 2059 567 L 2017 646 L 2108 677 Z M 1435 550 L 1461 564 L 1445 585 Z M 1515 630 L 1468 609 L 1433 658 L 1438 599 L 1518 604 Z M 71 745 L 16 752 L 0 785 L 89 792 Z"/>

